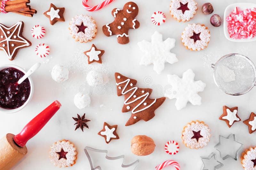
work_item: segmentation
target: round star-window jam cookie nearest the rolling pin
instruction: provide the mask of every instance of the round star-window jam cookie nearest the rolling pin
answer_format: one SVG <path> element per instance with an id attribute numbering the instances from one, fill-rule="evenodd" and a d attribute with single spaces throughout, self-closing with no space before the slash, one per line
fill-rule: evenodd
<path id="1" fill-rule="evenodd" d="M 73 166 L 76 163 L 76 146 L 69 140 L 60 140 L 51 146 L 49 158 L 58 167 Z"/>

